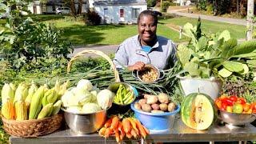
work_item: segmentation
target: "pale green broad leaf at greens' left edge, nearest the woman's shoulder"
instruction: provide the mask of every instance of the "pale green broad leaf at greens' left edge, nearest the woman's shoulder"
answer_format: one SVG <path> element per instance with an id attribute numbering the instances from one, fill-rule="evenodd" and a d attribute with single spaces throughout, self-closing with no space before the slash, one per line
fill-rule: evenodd
<path id="1" fill-rule="evenodd" d="M 182 62 L 182 66 L 185 66 L 185 64 L 190 61 L 190 50 L 184 45 L 178 45 L 177 56 L 178 60 Z"/>

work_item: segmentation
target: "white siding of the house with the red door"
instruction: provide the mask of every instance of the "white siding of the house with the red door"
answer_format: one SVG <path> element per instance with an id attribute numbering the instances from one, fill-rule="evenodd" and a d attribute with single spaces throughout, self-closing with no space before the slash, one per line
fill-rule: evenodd
<path id="1" fill-rule="evenodd" d="M 108 10 L 108 14 L 104 18 L 104 9 Z M 119 18 L 119 10 L 124 9 L 124 21 Z M 132 9 L 139 9 L 139 13 L 147 9 L 146 5 L 138 6 L 94 6 L 94 10 L 102 18 L 102 23 L 137 23 L 137 18 L 132 18 Z M 104 21 L 105 20 L 105 21 Z"/>

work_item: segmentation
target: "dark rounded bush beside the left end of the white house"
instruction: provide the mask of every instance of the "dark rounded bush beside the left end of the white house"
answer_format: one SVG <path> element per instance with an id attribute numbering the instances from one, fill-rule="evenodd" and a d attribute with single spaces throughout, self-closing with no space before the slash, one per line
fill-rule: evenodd
<path id="1" fill-rule="evenodd" d="M 97 26 L 101 23 L 101 17 L 95 11 L 88 11 L 86 14 L 85 22 L 87 25 Z"/>

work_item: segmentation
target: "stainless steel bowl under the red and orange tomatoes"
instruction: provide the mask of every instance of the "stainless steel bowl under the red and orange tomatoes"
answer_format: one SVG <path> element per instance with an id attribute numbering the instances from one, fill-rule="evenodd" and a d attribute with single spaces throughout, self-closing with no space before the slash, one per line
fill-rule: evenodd
<path id="1" fill-rule="evenodd" d="M 256 119 L 255 114 L 237 114 L 230 113 L 224 110 L 219 110 L 219 115 L 223 122 L 235 126 L 242 126 L 246 123 L 254 122 L 254 120 Z"/>

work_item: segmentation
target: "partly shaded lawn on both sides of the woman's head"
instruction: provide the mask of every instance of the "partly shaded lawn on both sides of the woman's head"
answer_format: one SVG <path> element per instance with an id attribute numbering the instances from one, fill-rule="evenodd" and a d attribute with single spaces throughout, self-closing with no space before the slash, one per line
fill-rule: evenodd
<path id="1" fill-rule="evenodd" d="M 137 25 L 100 25 L 86 26 L 83 22 L 66 22 L 65 20 L 48 21 L 55 23 L 64 30 L 64 37 L 75 45 L 118 45 L 126 38 L 138 34 Z M 184 42 L 178 39 L 178 32 L 162 24 L 158 25 L 158 35 L 172 39 L 174 42 Z"/>

